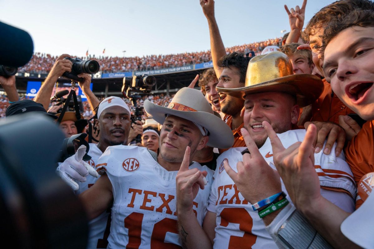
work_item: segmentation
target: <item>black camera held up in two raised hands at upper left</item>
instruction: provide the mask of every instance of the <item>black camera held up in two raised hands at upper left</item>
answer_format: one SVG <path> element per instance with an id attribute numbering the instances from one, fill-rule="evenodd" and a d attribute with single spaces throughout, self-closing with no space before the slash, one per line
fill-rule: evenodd
<path id="1" fill-rule="evenodd" d="M 79 75 L 80 73 L 93 74 L 99 72 L 100 65 L 96 60 L 81 60 L 78 58 L 71 59 L 69 57 L 65 57 L 65 59 L 73 62 L 71 72 L 65 72 L 62 75 L 66 78 L 72 79 L 74 81 L 84 81 L 83 78 L 79 78 L 77 75 Z"/>

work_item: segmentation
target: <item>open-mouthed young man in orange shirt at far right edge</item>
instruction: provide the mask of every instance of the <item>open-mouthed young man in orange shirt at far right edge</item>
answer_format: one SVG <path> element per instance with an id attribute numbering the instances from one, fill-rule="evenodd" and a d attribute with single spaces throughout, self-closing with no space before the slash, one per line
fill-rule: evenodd
<path id="1" fill-rule="evenodd" d="M 373 234 L 373 225 L 366 217 L 374 213 L 373 196 L 368 197 L 374 184 L 367 180 L 374 172 L 374 3 L 357 2 L 371 7 L 356 8 L 327 25 L 323 36 L 323 69 L 341 101 L 368 120 L 345 149 L 346 161 L 358 186 L 356 208 L 359 209 L 340 228 L 351 241 L 369 248 L 373 246 L 368 239 Z"/>

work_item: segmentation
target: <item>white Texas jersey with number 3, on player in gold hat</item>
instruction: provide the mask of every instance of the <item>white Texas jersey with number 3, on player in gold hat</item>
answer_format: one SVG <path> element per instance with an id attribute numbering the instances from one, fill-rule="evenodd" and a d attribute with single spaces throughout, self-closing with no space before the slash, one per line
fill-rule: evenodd
<path id="1" fill-rule="evenodd" d="M 278 134 L 285 148 L 297 141 L 303 141 L 306 130 L 289 130 L 288 132 Z M 217 214 L 214 248 L 278 248 L 265 229 L 265 224 L 258 216 L 258 212 L 252 209 L 240 192 L 230 176 L 226 173 L 223 166 L 223 160 L 226 158 L 230 166 L 237 172 L 236 164 L 243 160 L 242 151 L 246 147 L 231 148 L 224 152 L 217 159 L 217 168 L 214 173 L 214 182 L 212 184 L 211 195 L 209 197 L 208 210 Z M 272 145 L 268 138 L 265 144 L 260 148 L 260 153 L 273 169 Z M 315 169 L 318 173 L 321 187 L 328 189 L 339 189 L 350 193 L 355 198 L 356 187 L 353 182 L 353 175 L 349 166 L 344 161 L 343 153 L 335 157 L 335 145 L 330 155 L 323 152 L 315 154 Z M 286 189 L 282 182 L 282 190 Z M 329 193 L 331 193 L 330 191 Z M 329 195 L 337 198 L 335 195 Z M 340 196 L 340 195 L 339 195 Z M 324 196 L 326 198 L 326 196 Z M 349 196 L 347 196 L 348 199 Z M 290 201 L 289 196 L 287 199 Z M 352 210 L 353 210 L 353 202 Z"/>

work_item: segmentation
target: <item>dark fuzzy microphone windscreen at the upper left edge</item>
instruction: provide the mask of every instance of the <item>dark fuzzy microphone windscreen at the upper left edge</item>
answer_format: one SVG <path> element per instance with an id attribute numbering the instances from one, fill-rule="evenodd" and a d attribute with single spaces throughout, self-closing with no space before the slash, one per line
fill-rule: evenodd
<path id="1" fill-rule="evenodd" d="M 34 43 L 30 34 L 0 22 L 0 65 L 22 67 L 34 53 Z"/>

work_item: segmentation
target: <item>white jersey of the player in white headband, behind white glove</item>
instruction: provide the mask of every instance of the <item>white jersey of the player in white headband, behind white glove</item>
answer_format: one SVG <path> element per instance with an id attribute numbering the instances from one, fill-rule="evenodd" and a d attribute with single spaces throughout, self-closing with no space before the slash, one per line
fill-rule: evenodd
<path id="1" fill-rule="evenodd" d="M 95 168 L 95 166 L 98 164 L 99 157 L 101 157 L 102 155 L 102 151 L 97 147 L 96 144 L 90 144 L 88 155 L 92 158 L 91 160 L 86 161 L 86 163 Z M 86 176 L 86 182 L 76 181 L 79 185 L 79 189 L 75 192 L 76 195 L 79 195 L 80 193 L 91 187 L 97 181 L 97 179 L 99 179 L 99 177 L 96 178 L 91 175 L 88 175 Z M 101 215 L 89 221 L 89 236 L 87 249 L 107 248 L 107 239 L 109 236 L 111 220 L 109 214 L 110 209 L 104 211 Z"/>

